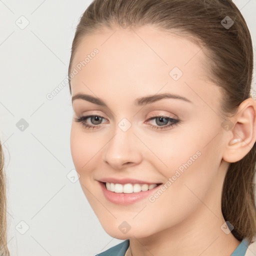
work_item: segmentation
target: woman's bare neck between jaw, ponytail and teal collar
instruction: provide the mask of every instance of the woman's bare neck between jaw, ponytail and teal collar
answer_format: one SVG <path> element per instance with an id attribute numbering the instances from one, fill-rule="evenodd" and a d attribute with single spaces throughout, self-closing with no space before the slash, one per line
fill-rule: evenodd
<path id="1" fill-rule="evenodd" d="M 221 212 L 220 180 L 223 181 L 224 174 L 219 174 L 207 196 L 196 198 L 201 201 L 200 206 L 183 221 L 146 237 L 129 238 L 127 256 L 231 255 L 240 241 L 221 229 L 225 220 Z"/>

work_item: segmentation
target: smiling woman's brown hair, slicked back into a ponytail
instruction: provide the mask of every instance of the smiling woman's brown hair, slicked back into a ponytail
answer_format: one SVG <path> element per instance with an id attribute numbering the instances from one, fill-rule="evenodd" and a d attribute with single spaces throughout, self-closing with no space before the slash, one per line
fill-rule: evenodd
<path id="1" fill-rule="evenodd" d="M 226 16 L 233 21 L 224 27 Z M 224 20 L 224 23 L 221 20 Z M 80 17 L 72 42 L 68 67 L 84 36 L 100 28 L 154 25 L 195 41 L 210 58 L 209 79 L 222 90 L 221 115 L 233 116 L 250 97 L 253 51 L 246 22 L 231 0 L 93 0 Z M 238 240 L 254 241 L 256 234 L 254 143 L 239 161 L 229 164 L 222 187 L 221 210 Z"/>

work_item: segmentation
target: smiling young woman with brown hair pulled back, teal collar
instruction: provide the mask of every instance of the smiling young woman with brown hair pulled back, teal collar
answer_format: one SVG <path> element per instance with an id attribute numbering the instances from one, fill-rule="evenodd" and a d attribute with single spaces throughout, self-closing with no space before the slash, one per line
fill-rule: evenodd
<path id="1" fill-rule="evenodd" d="M 99 255 L 227 256 L 255 239 L 251 37 L 230 0 L 94 0 L 69 64 L 72 159 Z"/>

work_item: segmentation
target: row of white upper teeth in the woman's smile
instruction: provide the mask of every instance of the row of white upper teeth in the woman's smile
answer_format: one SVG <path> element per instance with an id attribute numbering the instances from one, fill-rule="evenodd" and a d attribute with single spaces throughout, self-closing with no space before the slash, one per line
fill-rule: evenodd
<path id="1" fill-rule="evenodd" d="M 118 184 L 118 183 L 109 183 L 106 182 L 106 189 L 115 193 L 137 193 L 140 191 L 146 191 L 148 189 L 152 189 L 155 186 L 157 186 L 156 184 L 134 184 L 132 185 L 131 183 L 127 183 L 127 184 Z"/>

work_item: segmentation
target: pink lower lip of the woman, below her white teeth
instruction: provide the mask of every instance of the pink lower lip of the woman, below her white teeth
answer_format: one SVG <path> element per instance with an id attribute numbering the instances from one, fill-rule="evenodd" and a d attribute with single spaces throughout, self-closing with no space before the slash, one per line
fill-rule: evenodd
<path id="1" fill-rule="evenodd" d="M 154 192 L 156 189 L 159 188 L 159 185 L 157 185 L 150 190 L 140 191 L 137 193 L 115 193 L 107 190 L 105 187 L 105 183 L 100 181 L 99 183 L 102 188 L 103 194 L 105 195 L 107 200 L 109 200 L 110 202 L 113 202 L 116 204 L 122 204 L 122 205 L 131 204 L 145 197 L 148 197 L 152 192 Z"/>

